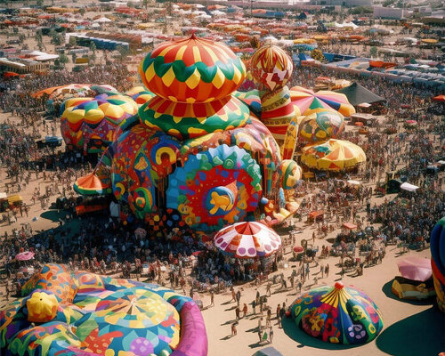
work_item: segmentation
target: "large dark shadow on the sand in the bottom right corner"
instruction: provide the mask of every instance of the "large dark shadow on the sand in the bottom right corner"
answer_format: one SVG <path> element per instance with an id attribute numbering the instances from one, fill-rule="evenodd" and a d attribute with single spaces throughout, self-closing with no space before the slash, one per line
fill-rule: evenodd
<path id="1" fill-rule="evenodd" d="M 385 328 L 377 347 L 392 356 L 437 355 L 445 350 L 445 314 L 433 306 Z"/>

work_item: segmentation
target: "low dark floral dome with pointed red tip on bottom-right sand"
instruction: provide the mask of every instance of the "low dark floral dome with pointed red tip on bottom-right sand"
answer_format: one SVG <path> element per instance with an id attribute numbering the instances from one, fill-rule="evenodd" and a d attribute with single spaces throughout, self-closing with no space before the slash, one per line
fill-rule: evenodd
<path id="1" fill-rule="evenodd" d="M 383 328 L 380 312 L 368 295 L 341 282 L 300 295 L 290 311 L 298 328 L 333 344 L 366 344 Z"/>

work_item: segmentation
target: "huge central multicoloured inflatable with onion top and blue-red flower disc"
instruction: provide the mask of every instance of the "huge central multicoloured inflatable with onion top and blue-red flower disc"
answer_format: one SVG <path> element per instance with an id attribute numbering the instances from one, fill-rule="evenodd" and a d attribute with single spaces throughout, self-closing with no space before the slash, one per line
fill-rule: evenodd
<path id="1" fill-rule="evenodd" d="M 146 222 L 153 214 L 164 221 L 173 209 L 194 231 L 246 219 L 262 197 L 273 214 L 280 184 L 294 188 L 301 170 L 282 164 L 270 130 L 232 95 L 246 69 L 231 49 L 191 36 L 158 45 L 139 72 L 154 97 L 119 125 L 93 175 L 77 180 L 75 190 L 111 190 Z M 141 88 L 127 94 L 137 93 Z M 99 176 L 104 166 L 108 178 Z"/>

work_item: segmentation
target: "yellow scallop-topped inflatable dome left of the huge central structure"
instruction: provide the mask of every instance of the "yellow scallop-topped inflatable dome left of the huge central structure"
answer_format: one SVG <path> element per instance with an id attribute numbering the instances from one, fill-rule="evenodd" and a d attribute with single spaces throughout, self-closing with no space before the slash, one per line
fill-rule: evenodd
<path id="1" fill-rule="evenodd" d="M 114 141 L 117 126 L 137 109 L 132 98 L 121 94 L 69 99 L 61 106 L 61 135 L 67 145 L 85 154 L 102 152 Z"/>

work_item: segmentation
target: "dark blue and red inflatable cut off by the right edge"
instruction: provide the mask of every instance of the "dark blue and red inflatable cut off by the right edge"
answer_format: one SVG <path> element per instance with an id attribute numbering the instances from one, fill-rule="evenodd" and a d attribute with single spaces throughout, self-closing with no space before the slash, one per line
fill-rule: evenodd
<path id="1" fill-rule="evenodd" d="M 445 217 L 442 217 L 431 231 L 430 248 L 437 304 L 439 309 L 445 312 Z"/>

